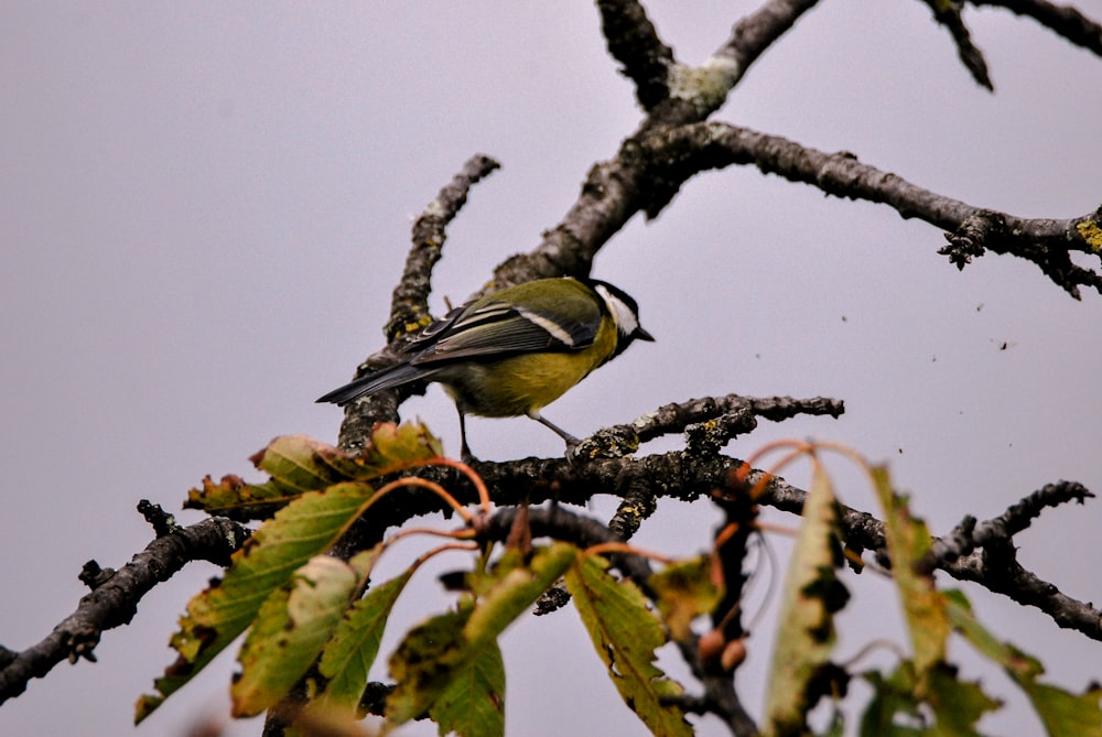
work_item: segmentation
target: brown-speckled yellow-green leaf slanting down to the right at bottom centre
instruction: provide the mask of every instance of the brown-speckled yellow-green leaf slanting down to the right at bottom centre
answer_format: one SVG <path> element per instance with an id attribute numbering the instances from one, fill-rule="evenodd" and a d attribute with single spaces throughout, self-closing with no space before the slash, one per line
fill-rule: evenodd
<path id="1" fill-rule="evenodd" d="M 580 556 L 565 576 L 593 646 L 625 703 L 653 734 L 692 735 L 681 708 L 663 703 L 683 690 L 655 665 L 655 650 L 666 642 L 661 622 L 639 588 L 616 581 L 607 567 L 599 556 Z"/>

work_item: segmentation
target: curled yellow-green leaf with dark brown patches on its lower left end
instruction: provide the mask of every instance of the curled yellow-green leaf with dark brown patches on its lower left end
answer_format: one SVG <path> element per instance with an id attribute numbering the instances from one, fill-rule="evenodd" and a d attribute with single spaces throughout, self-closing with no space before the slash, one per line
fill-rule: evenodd
<path id="1" fill-rule="evenodd" d="M 402 724 L 429 711 L 497 637 L 528 610 L 570 566 L 577 549 L 566 543 L 538 548 L 527 565 L 511 551 L 479 585 L 482 596 L 458 613 L 433 617 L 406 636 L 390 658 L 398 687 L 387 700 L 387 719 Z"/>

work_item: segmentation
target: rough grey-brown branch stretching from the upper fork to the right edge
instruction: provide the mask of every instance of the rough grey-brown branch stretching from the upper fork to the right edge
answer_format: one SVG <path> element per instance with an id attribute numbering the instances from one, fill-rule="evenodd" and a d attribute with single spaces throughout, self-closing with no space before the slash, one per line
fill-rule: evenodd
<path id="1" fill-rule="evenodd" d="M 827 194 L 883 203 L 905 218 L 947 230 L 939 252 L 963 268 L 985 251 L 1033 261 L 1056 284 L 1079 299 L 1079 288 L 1102 293 L 1102 274 L 1076 265 L 1070 252 L 1102 253 L 1102 208 L 1069 219 L 1024 218 L 939 195 L 857 161 L 847 152 L 824 153 L 747 128 L 721 122 L 656 130 L 642 141 L 653 176 L 670 186 L 707 170 L 753 164 L 767 174 L 819 187 Z"/>

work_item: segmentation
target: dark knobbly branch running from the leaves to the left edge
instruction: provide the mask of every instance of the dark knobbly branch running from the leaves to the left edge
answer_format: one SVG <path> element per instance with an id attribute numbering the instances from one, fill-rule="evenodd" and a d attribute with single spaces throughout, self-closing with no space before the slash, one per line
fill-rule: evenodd
<path id="1" fill-rule="evenodd" d="M 86 565 L 82 579 L 91 582 L 95 588 L 80 599 L 76 610 L 37 644 L 22 652 L 0 653 L 0 704 L 23 693 L 31 679 L 44 676 L 63 660 L 95 661 L 93 650 L 100 633 L 129 624 L 138 601 L 153 586 L 171 578 L 191 561 L 228 565 L 229 556 L 249 534 L 237 522 L 212 518 L 166 531 L 117 572 Z M 93 568 L 96 575 L 89 575 Z"/>

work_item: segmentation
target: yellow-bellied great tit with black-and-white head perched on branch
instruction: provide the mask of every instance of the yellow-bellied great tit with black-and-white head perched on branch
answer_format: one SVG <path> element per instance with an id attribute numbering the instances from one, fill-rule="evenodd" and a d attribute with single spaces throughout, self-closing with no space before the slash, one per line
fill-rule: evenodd
<path id="1" fill-rule="evenodd" d="M 572 447 L 577 438 L 541 416 L 540 410 L 637 339 L 655 338 L 639 325 L 635 300 L 622 290 L 592 279 L 540 279 L 452 310 L 402 348 L 400 364 L 317 401 L 344 407 L 410 381 L 437 381 L 460 412 L 464 458 L 473 457 L 467 414 L 528 415 Z"/>

